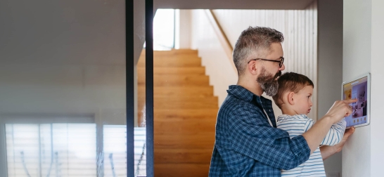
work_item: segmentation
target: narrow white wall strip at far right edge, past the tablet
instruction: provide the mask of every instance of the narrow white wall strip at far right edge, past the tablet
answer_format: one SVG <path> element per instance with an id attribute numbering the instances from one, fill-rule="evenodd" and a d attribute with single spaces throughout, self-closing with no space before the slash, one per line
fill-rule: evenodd
<path id="1" fill-rule="evenodd" d="M 384 140 L 383 140 L 383 78 L 384 78 L 384 1 L 372 1 L 371 28 L 371 176 L 383 176 Z"/>

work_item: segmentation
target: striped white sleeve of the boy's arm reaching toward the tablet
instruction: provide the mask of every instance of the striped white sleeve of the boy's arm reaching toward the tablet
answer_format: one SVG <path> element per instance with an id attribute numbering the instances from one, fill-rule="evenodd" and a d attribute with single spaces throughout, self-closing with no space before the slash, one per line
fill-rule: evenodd
<path id="1" fill-rule="evenodd" d="M 310 129 L 313 125 L 313 120 L 312 122 L 308 122 L 305 125 L 305 131 L 308 131 L 308 129 Z M 340 120 L 340 122 L 333 124 L 331 126 L 331 129 L 329 129 L 328 133 L 326 134 L 324 140 L 320 143 L 320 145 L 337 145 L 338 143 L 340 143 L 340 141 L 343 139 L 346 125 L 347 122 L 345 122 L 344 118 Z"/>

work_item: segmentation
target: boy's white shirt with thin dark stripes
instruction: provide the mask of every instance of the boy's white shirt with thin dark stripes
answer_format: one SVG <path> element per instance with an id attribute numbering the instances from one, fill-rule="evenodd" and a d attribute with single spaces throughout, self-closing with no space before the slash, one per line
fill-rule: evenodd
<path id="1" fill-rule="evenodd" d="M 345 131 L 345 119 L 333 124 L 320 145 L 336 145 L 343 139 Z M 283 114 L 277 117 L 277 128 L 288 131 L 290 138 L 302 135 L 314 125 L 314 120 L 305 114 L 293 116 Z M 309 156 L 309 159 L 297 166 L 295 169 L 281 170 L 281 176 L 326 176 L 324 163 L 321 157 L 320 148 Z"/>

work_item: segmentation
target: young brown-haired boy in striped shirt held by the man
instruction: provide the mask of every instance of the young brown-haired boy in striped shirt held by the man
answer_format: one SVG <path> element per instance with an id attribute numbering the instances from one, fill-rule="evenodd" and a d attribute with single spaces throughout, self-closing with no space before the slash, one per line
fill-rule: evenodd
<path id="1" fill-rule="evenodd" d="M 286 72 L 278 79 L 279 89 L 274 101 L 283 112 L 277 117 L 277 128 L 288 131 L 290 138 L 299 136 L 310 129 L 314 121 L 307 117 L 312 107 L 314 84 L 302 74 Z M 343 139 L 345 119 L 333 124 L 321 145 L 336 145 Z M 295 169 L 281 170 L 281 176 L 326 176 L 320 148 L 309 159 Z"/>

